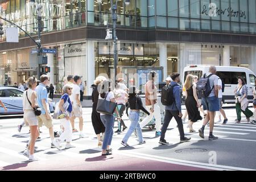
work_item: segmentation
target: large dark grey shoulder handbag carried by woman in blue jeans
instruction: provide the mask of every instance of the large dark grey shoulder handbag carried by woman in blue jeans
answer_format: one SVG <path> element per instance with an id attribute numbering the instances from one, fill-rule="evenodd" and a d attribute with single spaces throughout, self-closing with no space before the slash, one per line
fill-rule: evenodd
<path id="1" fill-rule="evenodd" d="M 105 99 L 99 99 L 96 111 L 101 114 L 113 114 L 115 111 L 115 107 L 117 107 L 117 103 L 110 102 L 106 100 L 106 97 L 108 94 L 106 94 Z"/>

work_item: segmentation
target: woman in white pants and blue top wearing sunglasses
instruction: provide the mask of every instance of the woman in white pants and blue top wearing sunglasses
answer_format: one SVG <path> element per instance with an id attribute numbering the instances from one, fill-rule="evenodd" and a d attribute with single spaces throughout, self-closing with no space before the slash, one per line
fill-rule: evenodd
<path id="1" fill-rule="evenodd" d="M 61 110 L 60 119 L 61 125 L 64 127 L 63 133 L 60 135 L 59 139 L 56 139 L 57 145 L 60 146 L 60 143 L 66 140 L 65 148 L 73 148 L 71 145 L 72 141 L 72 126 L 70 122 L 72 104 L 69 96 L 72 94 L 72 87 L 70 85 L 63 86 L 63 96 L 60 98 L 59 108 Z M 57 147 L 59 149 L 59 147 Z"/>

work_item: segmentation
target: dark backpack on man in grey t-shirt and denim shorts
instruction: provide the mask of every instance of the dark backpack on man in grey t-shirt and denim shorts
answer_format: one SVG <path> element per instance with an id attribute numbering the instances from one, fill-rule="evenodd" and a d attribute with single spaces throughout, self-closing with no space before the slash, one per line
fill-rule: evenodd
<path id="1" fill-rule="evenodd" d="M 214 86 L 210 88 L 210 80 L 209 80 L 209 78 L 212 75 L 213 74 L 206 76 L 206 74 L 204 74 L 204 76 L 200 78 L 200 80 L 196 83 L 196 92 L 199 99 L 202 97 L 208 97 L 209 94 L 212 92 Z"/>

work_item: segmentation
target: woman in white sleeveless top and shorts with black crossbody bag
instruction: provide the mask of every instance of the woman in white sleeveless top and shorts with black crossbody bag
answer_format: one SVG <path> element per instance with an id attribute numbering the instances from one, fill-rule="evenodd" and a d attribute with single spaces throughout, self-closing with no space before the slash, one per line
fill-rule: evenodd
<path id="1" fill-rule="evenodd" d="M 23 152 L 23 155 L 28 157 L 29 161 L 36 161 L 38 158 L 34 156 L 35 141 L 39 137 L 38 130 L 38 118 L 34 113 L 35 107 L 38 107 L 36 104 L 36 78 L 28 78 L 28 89 L 23 93 L 23 111 L 24 111 L 24 122 L 26 125 L 30 126 L 30 140 L 28 141 L 28 147 Z"/>

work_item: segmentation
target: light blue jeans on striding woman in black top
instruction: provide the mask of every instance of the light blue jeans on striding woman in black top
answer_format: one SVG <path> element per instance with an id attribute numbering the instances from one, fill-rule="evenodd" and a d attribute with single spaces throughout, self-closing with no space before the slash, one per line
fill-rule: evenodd
<path id="1" fill-rule="evenodd" d="M 139 111 L 130 111 L 129 119 L 131 121 L 131 125 L 130 125 L 127 133 L 125 134 L 125 137 L 123 137 L 123 142 L 127 143 L 128 139 L 131 137 L 131 134 L 133 133 L 134 129 L 137 131 L 139 142 L 143 142 L 141 126 L 139 125 Z"/>

